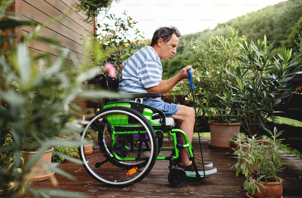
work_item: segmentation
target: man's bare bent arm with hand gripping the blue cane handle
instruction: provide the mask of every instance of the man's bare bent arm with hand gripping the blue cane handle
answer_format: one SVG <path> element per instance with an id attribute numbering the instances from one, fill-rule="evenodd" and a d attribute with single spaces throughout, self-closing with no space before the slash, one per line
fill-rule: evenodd
<path id="1" fill-rule="evenodd" d="M 191 73 L 194 74 L 194 69 L 191 65 L 186 66 L 185 68 L 182 68 L 182 70 L 176 74 L 174 77 L 170 78 L 169 80 L 160 81 L 159 84 L 155 87 L 148 88 L 149 93 L 159 93 L 159 94 L 165 94 L 168 91 L 170 91 L 179 81 L 182 79 L 188 78 L 188 72 L 187 70 L 190 69 Z"/>

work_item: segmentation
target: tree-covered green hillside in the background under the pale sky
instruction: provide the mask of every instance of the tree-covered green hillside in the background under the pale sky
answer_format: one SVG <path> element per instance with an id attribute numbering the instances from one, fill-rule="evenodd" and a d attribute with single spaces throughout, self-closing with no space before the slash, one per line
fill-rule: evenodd
<path id="1" fill-rule="evenodd" d="M 185 43 L 199 39 L 205 42 L 211 36 L 226 36 L 229 29 L 239 30 L 239 35 L 248 39 L 261 39 L 266 35 L 267 41 L 276 45 L 273 53 L 281 48 L 297 50 L 296 41 L 302 31 L 302 1 L 288 0 L 273 6 L 267 6 L 256 12 L 234 18 L 218 24 L 213 30 L 204 30 L 190 35 L 182 35 L 177 54 L 169 61 L 162 60 L 163 79 L 171 78 L 185 65 L 196 65 L 196 59 L 185 48 Z"/>

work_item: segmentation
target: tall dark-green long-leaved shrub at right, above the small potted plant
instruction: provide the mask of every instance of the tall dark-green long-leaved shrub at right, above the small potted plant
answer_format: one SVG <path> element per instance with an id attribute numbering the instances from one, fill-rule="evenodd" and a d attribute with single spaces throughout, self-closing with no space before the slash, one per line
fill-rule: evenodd
<path id="1" fill-rule="evenodd" d="M 226 112 L 223 116 L 241 122 L 249 137 L 260 136 L 267 128 L 268 118 L 278 113 L 275 106 L 289 96 L 282 91 L 290 89 L 288 81 L 299 72 L 298 62 L 291 60 L 289 49 L 271 55 L 275 47 L 267 43 L 266 36 L 249 44 L 243 40 L 240 46 L 237 61 L 227 71 L 236 81 L 232 81 L 230 93 L 220 97 L 225 107 L 222 111 Z"/>

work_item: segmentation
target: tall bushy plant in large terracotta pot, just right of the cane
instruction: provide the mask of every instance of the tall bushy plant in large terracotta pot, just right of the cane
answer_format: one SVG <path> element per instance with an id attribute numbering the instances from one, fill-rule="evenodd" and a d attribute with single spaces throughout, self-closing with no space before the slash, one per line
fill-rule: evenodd
<path id="1" fill-rule="evenodd" d="M 240 121 L 221 116 L 225 113 L 221 111 L 224 105 L 219 102 L 218 96 L 229 90 L 229 85 L 234 80 L 233 77 L 227 75 L 226 67 L 235 61 L 240 48 L 239 41 L 244 39 L 244 37 L 239 37 L 238 30 L 230 29 L 226 36 L 210 37 L 205 44 L 202 44 L 199 39 L 194 43 L 190 41 L 185 43 L 186 48 L 193 54 L 192 61 L 196 61 L 198 65 L 194 67 L 193 76 L 197 115 L 210 125 L 209 144 L 214 148 L 228 149 L 229 140 L 240 130 Z M 188 90 L 184 86 L 188 84 L 179 83 L 175 89 L 182 92 Z M 188 93 L 186 99 L 192 102 L 192 94 Z"/>

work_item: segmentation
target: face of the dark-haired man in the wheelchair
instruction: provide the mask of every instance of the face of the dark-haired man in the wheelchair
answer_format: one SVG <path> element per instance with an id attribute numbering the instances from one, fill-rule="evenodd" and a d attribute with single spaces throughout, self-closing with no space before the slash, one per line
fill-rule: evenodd
<path id="1" fill-rule="evenodd" d="M 169 60 L 173 54 L 176 54 L 176 48 L 178 45 L 178 37 L 172 34 L 168 42 L 161 42 L 160 59 Z"/>

